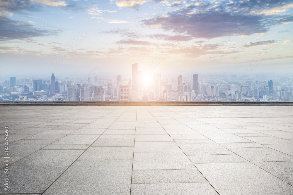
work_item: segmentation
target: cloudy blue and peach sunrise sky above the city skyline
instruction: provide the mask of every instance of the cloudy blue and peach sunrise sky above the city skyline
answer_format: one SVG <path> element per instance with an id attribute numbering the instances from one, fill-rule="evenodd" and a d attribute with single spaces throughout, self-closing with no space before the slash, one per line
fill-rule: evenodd
<path id="1" fill-rule="evenodd" d="M 292 0 L 1 0 L 0 76 L 287 73 L 292 22 Z"/>

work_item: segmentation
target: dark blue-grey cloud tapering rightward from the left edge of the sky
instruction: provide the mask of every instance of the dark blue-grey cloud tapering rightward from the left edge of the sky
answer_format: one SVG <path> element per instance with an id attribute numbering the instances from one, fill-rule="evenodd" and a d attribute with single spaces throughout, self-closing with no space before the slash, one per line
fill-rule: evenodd
<path id="1" fill-rule="evenodd" d="M 28 37 L 39 37 L 47 35 L 57 35 L 58 30 L 46 30 L 44 27 L 35 27 L 28 22 L 11 20 L 0 16 L 0 41 L 13 39 L 28 39 Z"/>

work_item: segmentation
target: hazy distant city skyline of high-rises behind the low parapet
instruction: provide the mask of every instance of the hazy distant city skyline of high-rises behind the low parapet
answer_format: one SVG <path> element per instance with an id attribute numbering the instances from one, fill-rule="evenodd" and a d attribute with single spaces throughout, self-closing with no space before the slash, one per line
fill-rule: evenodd
<path id="1" fill-rule="evenodd" d="M 0 101 L 293 101 L 291 78 L 266 75 L 164 76 L 145 79 L 138 63 L 131 78 L 115 75 L 50 80 L 10 77 L 0 80 Z"/>

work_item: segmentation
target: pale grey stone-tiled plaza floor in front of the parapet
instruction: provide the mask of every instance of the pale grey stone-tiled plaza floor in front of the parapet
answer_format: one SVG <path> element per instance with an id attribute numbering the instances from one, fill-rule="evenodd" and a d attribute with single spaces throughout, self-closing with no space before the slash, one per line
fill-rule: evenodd
<path id="1" fill-rule="evenodd" d="M 290 106 L 1 106 L 0 116 L 0 194 L 293 194 Z"/>

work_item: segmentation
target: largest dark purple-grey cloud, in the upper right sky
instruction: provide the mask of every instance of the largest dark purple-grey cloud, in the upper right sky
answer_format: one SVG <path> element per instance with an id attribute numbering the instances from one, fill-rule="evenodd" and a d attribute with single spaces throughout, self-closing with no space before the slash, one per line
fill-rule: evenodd
<path id="1" fill-rule="evenodd" d="M 273 25 L 291 23 L 293 15 L 255 13 L 258 8 L 272 8 L 289 1 L 270 1 L 265 7 L 258 1 L 227 1 L 188 4 L 166 15 L 142 20 L 147 27 L 187 34 L 194 38 L 213 39 L 224 36 L 264 34 Z"/>

